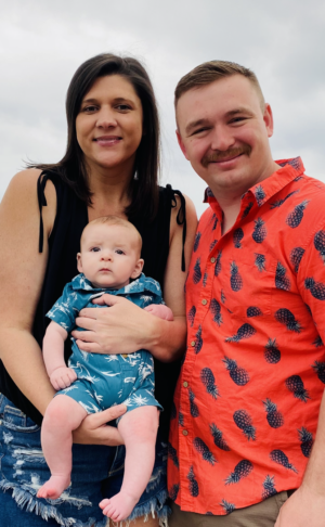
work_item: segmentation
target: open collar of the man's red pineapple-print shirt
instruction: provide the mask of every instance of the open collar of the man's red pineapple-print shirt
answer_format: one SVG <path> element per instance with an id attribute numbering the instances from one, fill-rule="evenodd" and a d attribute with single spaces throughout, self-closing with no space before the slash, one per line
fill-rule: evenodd
<path id="1" fill-rule="evenodd" d="M 247 197 L 249 194 L 256 201 L 257 205 L 261 207 L 265 202 L 271 200 L 277 192 L 284 189 L 294 179 L 299 178 L 304 172 L 304 166 L 300 157 L 294 157 L 292 159 L 280 159 L 275 162 L 280 165 L 278 170 L 272 173 L 269 178 L 251 187 L 243 197 Z M 214 213 L 218 216 L 221 214 L 221 207 L 213 195 L 210 187 L 205 191 L 204 203 L 209 203 Z"/>

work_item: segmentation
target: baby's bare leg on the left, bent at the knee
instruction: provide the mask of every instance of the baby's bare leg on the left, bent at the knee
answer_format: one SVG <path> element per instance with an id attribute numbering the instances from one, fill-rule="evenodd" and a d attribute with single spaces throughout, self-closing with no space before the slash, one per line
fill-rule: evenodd
<path id="1" fill-rule="evenodd" d="M 41 442 L 51 477 L 37 492 L 38 498 L 56 500 L 69 486 L 73 430 L 78 428 L 86 416 L 86 410 L 65 395 L 54 397 L 48 406 L 41 429 Z"/>

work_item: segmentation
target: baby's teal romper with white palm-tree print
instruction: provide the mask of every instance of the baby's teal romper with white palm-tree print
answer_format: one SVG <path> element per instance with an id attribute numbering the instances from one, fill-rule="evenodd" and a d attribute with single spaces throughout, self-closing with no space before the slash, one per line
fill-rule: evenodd
<path id="1" fill-rule="evenodd" d="M 51 320 L 70 333 L 76 327 L 76 318 L 86 307 L 101 308 L 92 304 L 93 298 L 104 293 L 127 298 L 136 306 L 145 308 L 150 304 L 164 304 L 158 282 L 141 277 L 120 290 L 93 287 L 83 274 L 78 274 L 66 284 L 63 295 L 47 313 Z M 101 412 L 123 402 L 129 410 L 143 406 L 157 407 L 155 399 L 155 373 L 152 355 L 139 349 L 130 355 L 89 354 L 78 348 L 75 338 L 69 368 L 77 373 L 77 381 L 56 393 L 75 399 L 87 413 Z"/>

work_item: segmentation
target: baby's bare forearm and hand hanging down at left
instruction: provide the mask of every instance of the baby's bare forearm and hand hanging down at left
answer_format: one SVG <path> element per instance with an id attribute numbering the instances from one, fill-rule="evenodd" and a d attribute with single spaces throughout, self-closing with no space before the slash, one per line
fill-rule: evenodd
<path id="1" fill-rule="evenodd" d="M 68 333 L 53 320 L 43 338 L 43 359 L 53 388 L 56 390 L 70 386 L 77 374 L 64 362 L 64 342 Z"/>

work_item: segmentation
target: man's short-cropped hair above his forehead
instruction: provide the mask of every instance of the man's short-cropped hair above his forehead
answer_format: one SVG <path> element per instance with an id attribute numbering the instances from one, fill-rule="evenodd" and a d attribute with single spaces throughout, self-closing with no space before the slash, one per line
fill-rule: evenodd
<path id="1" fill-rule="evenodd" d="M 216 80 L 232 77 L 233 75 L 242 75 L 253 85 L 260 98 L 261 107 L 264 111 L 264 95 L 255 73 L 248 67 L 244 67 L 235 62 L 227 61 L 205 62 L 184 75 L 174 90 L 174 106 L 177 107 L 180 98 L 186 93 L 186 91 L 202 88 L 203 86 L 210 85 Z"/>

